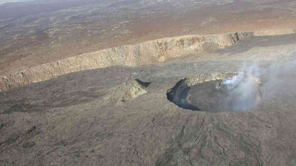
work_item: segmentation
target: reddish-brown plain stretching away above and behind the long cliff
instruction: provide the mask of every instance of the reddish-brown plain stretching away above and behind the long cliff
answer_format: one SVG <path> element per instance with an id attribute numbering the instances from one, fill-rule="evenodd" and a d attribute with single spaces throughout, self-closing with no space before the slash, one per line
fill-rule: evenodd
<path id="1" fill-rule="evenodd" d="M 292 0 L 85 0 L 0 5 L 0 75 L 147 40 L 294 30 Z"/>

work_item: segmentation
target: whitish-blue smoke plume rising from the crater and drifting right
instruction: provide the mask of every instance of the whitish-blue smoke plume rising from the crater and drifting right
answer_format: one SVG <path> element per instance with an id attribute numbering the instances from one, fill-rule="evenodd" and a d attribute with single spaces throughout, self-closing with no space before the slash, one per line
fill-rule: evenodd
<path id="1" fill-rule="evenodd" d="M 225 79 L 223 84 L 229 90 L 229 101 L 234 103 L 233 111 L 250 110 L 260 102 L 261 97 L 271 100 L 278 98 L 279 94 L 288 95 L 295 89 L 296 60 L 282 65 L 272 64 L 267 69 L 244 65 L 237 75 Z"/>

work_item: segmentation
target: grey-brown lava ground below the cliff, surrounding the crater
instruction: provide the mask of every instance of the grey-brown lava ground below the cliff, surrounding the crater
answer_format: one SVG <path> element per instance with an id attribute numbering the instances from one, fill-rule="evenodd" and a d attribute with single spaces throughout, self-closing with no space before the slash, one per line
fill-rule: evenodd
<path id="1" fill-rule="evenodd" d="M 287 65 L 295 48 L 295 34 L 260 36 L 211 54 L 85 70 L 1 92 L 0 163 L 295 165 L 296 75 Z M 193 111 L 167 99 L 183 78 L 254 65 L 267 71 L 260 75 L 266 89 L 249 111 Z"/>

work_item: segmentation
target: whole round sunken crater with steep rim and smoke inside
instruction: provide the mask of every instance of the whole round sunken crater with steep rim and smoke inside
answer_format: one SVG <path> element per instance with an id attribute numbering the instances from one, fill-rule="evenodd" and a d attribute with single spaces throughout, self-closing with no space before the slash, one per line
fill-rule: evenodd
<path id="1" fill-rule="evenodd" d="M 167 91 L 177 106 L 193 111 L 248 111 L 260 102 L 260 79 L 245 73 L 213 73 L 180 80 Z"/>

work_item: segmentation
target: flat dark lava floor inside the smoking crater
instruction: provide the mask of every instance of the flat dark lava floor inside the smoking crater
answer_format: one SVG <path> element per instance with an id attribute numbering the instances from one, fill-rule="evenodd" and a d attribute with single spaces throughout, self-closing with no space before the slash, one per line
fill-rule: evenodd
<path id="1" fill-rule="evenodd" d="M 247 98 L 244 92 L 227 88 L 223 80 L 209 81 L 185 88 L 179 96 L 178 106 L 194 111 L 248 111 L 255 107 L 259 91 L 246 91 L 251 94 Z"/>

